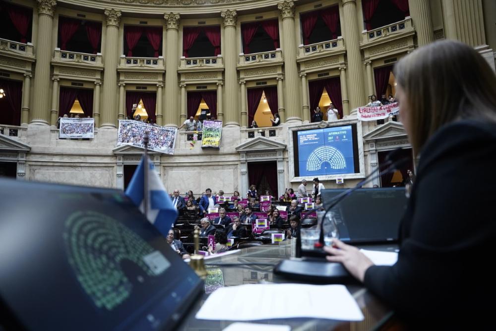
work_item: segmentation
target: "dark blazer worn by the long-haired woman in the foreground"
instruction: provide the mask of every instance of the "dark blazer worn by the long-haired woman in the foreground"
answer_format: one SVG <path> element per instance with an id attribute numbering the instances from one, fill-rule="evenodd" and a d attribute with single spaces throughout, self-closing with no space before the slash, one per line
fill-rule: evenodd
<path id="1" fill-rule="evenodd" d="M 494 305 L 483 298 L 496 295 L 488 270 L 495 258 L 495 164 L 496 124 L 448 124 L 422 149 L 398 261 L 369 267 L 364 281 L 409 323 L 434 319 L 443 330 L 490 323 Z"/>

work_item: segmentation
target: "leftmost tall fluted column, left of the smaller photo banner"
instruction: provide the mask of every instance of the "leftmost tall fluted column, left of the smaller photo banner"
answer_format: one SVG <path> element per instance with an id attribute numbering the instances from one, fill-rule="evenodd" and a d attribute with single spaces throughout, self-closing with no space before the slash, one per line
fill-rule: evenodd
<path id="1" fill-rule="evenodd" d="M 38 38 L 34 71 L 32 124 L 48 125 L 50 120 L 50 62 L 52 61 L 52 26 L 56 0 L 38 1 Z"/>

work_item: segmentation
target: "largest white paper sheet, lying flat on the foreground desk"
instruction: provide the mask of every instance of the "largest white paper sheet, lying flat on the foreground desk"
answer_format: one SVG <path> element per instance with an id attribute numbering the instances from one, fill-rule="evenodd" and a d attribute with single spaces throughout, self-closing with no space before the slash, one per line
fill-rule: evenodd
<path id="1" fill-rule="evenodd" d="M 357 302 L 344 285 L 308 284 L 246 284 L 219 288 L 208 297 L 195 317 L 228 321 L 296 317 L 345 321 L 364 319 Z"/>

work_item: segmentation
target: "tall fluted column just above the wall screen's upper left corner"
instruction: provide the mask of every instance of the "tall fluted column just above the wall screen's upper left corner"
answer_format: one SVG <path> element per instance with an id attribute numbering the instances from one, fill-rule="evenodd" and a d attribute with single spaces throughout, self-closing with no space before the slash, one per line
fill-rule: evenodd
<path id="1" fill-rule="evenodd" d="M 298 67 L 296 64 L 296 42 L 295 42 L 295 3 L 291 0 L 279 2 L 277 8 L 282 16 L 282 38 L 284 56 L 284 76 L 286 77 L 286 89 L 284 93 L 286 105 L 286 122 L 301 122 L 300 89 L 298 79 Z"/>

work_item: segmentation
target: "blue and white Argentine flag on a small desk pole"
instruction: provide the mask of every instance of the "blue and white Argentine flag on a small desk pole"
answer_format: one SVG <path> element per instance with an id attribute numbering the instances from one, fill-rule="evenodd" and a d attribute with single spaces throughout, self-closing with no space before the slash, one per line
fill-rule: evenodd
<path id="1" fill-rule="evenodd" d="M 150 163 L 148 157 L 141 158 L 138 168 L 131 178 L 129 186 L 125 190 L 125 195 L 139 206 L 141 212 L 144 211 L 143 207 L 143 191 L 144 191 L 144 177 L 145 177 L 145 163 L 148 165 L 148 220 L 155 225 L 157 230 L 167 237 L 172 224 L 178 217 L 178 210 L 172 205 L 171 197 L 165 191 L 164 184 L 160 181 L 157 173 L 153 169 L 153 164 Z"/>

